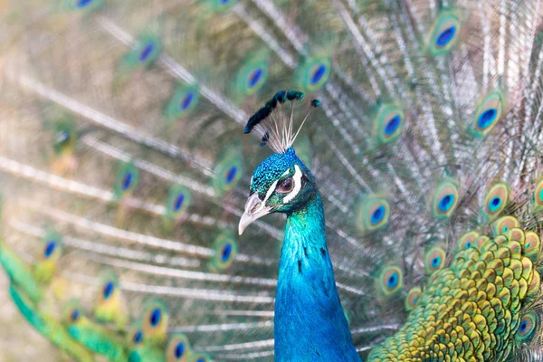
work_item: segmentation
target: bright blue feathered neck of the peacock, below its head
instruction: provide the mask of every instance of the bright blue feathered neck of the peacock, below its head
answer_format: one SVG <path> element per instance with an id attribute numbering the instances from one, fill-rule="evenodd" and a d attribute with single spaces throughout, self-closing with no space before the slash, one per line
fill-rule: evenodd
<path id="1" fill-rule="evenodd" d="M 319 193 L 289 214 L 275 300 L 275 361 L 360 361 L 339 301 Z"/>

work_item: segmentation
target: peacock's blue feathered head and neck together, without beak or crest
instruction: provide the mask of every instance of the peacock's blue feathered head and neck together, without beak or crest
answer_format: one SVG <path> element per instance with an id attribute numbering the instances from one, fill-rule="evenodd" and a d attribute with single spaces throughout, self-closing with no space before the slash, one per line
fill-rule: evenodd
<path id="1" fill-rule="evenodd" d="M 285 182 L 293 183 L 291 189 L 281 189 Z M 251 191 L 270 213 L 287 214 L 275 300 L 275 360 L 359 361 L 339 300 L 324 209 L 310 170 L 289 148 L 262 161 L 252 175 Z"/>

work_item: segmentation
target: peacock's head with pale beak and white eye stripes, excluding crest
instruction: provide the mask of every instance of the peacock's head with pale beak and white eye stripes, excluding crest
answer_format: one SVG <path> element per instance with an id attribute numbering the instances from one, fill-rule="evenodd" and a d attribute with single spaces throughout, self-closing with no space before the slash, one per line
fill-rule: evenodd
<path id="1" fill-rule="evenodd" d="M 317 187 L 315 178 L 294 148 L 275 153 L 256 167 L 251 179 L 251 195 L 239 224 L 239 233 L 266 214 L 291 214 L 303 208 Z"/>

